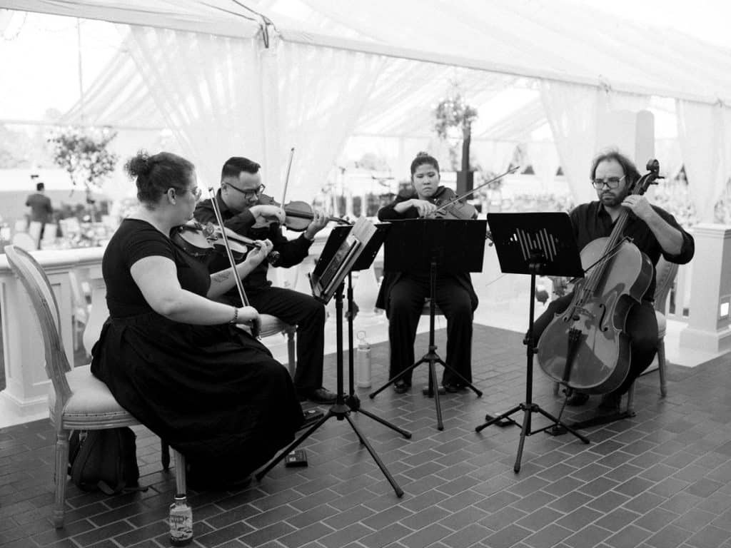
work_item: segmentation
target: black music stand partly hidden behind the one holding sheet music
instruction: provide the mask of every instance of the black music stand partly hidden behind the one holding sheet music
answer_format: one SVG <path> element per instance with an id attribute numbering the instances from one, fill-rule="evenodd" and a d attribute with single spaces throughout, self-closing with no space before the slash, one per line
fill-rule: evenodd
<path id="1" fill-rule="evenodd" d="M 349 384 L 349 393 L 347 397 L 345 398 L 346 405 L 350 408 L 350 411 L 360 411 L 360 413 L 370 417 L 371 419 L 374 419 L 376 422 L 380 422 L 382 425 L 389 427 L 391 430 L 395 430 L 395 432 L 400 433 L 404 436 L 406 439 L 411 439 L 412 434 L 408 430 L 404 430 L 403 428 L 400 428 L 396 425 L 394 425 L 391 422 L 388 422 L 385 419 L 382 419 L 379 416 L 376 416 L 372 414 L 370 411 L 366 411 L 365 409 L 360 407 L 360 399 L 355 395 L 355 374 L 354 374 L 354 356 L 353 356 L 353 319 L 355 319 L 355 304 L 353 301 L 353 278 L 352 273 L 357 272 L 360 270 L 368 270 L 368 268 L 371 267 L 373 264 L 374 259 L 376 258 L 376 254 L 378 254 L 378 250 L 383 245 L 384 240 L 386 239 L 388 235 L 388 231 L 391 227 L 390 223 L 379 223 L 375 224 L 374 227 L 376 227 L 376 232 L 374 235 L 370 237 L 368 242 L 366 242 L 366 245 L 363 247 L 363 251 L 360 252 L 360 254 L 357 256 L 357 259 L 355 259 L 355 262 L 353 263 L 352 267 L 350 267 L 350 271 L 348 273 L 348 290 L 347 290 L 347 301 L 348 301 L 348 311 L 346 312 L 345 316 L 348 320 L 348 384 Z M 314 267 L 314 270 L 312 271 L 312 275 L 317 279 L 322 276 L 322 273 L 325 272 L 327 268 L 327 264 L 330 261 L 330 258 L 333 257 L 338 251 L 338 248 L 342 246 L 343 242 L 346 240 L 348 235 L 350 234 L 350 231 L 352 230 L 352 226 L 349 225 L 341 225 L 338 227 L 333 227 L 333 229 L 330 231 L 330 236 L 327 237 L 327 242 L 325 242 L 325 248 L 322 249 L 322 255 L 320 255 L 320 258 L 317 260 L 317 264 Z M 327 301 L 325 302 L 327 304 Z M 342 349 L 338 349 L 338 351 L 341 351 Z"/>

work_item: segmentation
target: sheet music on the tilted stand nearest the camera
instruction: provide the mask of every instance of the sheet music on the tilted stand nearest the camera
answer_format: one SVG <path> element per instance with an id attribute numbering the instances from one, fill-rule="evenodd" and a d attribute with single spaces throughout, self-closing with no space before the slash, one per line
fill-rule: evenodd
<path id="1" fill-rule="evenodd" d="M 312 296 L 327 304 L 343 283 L 366 244 L 376 234 L 376 226 L 365 217 L 359 218 L 345 240 L 338 246 L 332 257 L 322 256 L 310 276 Z M 321 271 L 322 270 L 322 271 Z"/>

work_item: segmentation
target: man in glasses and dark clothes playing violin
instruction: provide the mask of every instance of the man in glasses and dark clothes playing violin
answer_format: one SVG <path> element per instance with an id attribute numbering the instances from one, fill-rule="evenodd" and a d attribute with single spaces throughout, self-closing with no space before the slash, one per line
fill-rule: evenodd
<path id="1" fill-rule="evenodd" d="M 315 211 L 313 219 L 295 240 L 287 240 L 281 232 L 284 211 L 278 205 L 260 203 L 264 190 L 260 165 L 246 158 L 234 156 L 221 170 L 221 189 L 216 193 L 221 216 L 227 228 L 252 239 L 270 240 L 273 250 L 279 252 L 278 267 L 298 265 L 308 255 L 317 232 L 327 224 L 324 213 Z M 197 221 L 213 223 L 216 215 L 211 199 L 199 202 L 194 213 Z M 223 266 L 222 266 L 223 265 Z M 209 270 L 224 267 L 216 259 Z M 243 280 L 249 304 L 260 313 L 276 316 L 287 324 L 297 326 L 297 369 L 295 387 L 300 400 L 315 403 L 333 403 L 336 395 L 322 387 L 322 359 L 325 354 L 325 307 L 310 295 L 272 286 L 267 279 L 268 263 L 262 262 Z M 238 292 L 224 295 L 227 302 L 240 301 Z"/>

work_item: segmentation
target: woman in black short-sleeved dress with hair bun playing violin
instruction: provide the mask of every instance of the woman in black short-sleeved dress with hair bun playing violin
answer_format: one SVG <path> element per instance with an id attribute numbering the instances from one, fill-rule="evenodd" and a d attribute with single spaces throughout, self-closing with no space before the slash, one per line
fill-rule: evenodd
<path id="1" fill-rule="evenodd" d="M 102 259 L 110 318 L 91 370 L 143 425 L 178 449 L 193 484 L 226 487 L 294 438 L 302 408 L 287 369 L 238 324 L 256 308 L 212 300 L 234 285 L 209 274 L 170 240 L 189 221 L 200 188 L 180 156 L 140 152 L 126 164 L 140 207 L 122 221 Z M 237 266 L 246 276 L 271 244 Z"/>

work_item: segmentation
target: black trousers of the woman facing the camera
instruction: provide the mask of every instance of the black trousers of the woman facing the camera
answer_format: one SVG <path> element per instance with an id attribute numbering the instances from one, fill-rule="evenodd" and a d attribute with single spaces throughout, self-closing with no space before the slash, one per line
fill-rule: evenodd
<path id="1" fill-rule="evenodd" d="M 414 339 L 429 296 L 429 278 L 404 274 L 391 288 L 388 308 L 388 340 L 391 349 L 389 378 L 412 365 Z M 472 381 L 472 303 L 469 293 L 450 276 L 436 280 L 435 302 L 447 318 L 447 358 L 444 362 L 468 381 Z M 411 373 L 402 377 L 411 383 Z M 450 370 L 444 370 L 442 384 L 456 384 Z"/>

